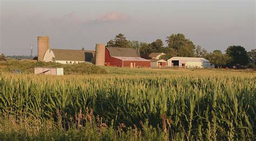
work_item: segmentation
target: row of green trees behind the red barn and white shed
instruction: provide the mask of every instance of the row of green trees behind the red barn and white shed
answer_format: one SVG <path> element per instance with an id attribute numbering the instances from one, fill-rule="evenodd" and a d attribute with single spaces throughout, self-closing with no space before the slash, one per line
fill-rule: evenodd
<path id="1" fill-rule="evenodd" d="M 152 43 L 140 42 L 138 40 L 127 40 L 124 34 L 117 34 L 114 39 L 107 42 L 106 47 L 131 47 L 136 48 L 140 56 L 145 59 L 150 59 L 149 54 L 153 52 L 163 52 L 165 55 L 161 56 L 161 59 L 170 59 L 172 57 L 200 57 L 205 58 L 217 67 L 232 67 L 239 65 L 242 67 L 256 67 L 256 50 L 247 52 L 242 46 L 228 46 L 225 53 L 220 50 L 214 50 L 213 52 L 207 52 L 205 48 L 200 45 L 194 45 L 194 43 L 185 37 L 184 34 L 171 34 L 166 37 L 165 42 L 167 46 L 164 46 L 164 42 L 161 39 L 157 39 Z"/>

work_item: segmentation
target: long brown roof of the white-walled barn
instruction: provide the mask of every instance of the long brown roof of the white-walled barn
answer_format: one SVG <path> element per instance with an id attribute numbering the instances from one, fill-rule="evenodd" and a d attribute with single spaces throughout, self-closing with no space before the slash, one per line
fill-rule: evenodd
<path id="1" fill-rule="evenodd" d="M 55 55 L 55 60 L 67 61 L 91 61 L 95 55 L 95 51 L 88 50 L 63 50 L 51 49 Z"/>

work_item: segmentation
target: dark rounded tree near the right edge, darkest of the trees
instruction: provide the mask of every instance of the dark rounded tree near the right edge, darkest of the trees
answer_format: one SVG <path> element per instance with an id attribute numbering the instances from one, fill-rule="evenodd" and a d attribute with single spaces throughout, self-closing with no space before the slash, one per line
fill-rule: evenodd
<path id="1" fill-rule="evenodd" d="M 247 65 L 249 62 L 248 54 L 242 46 L 229 46 L 226 50 L 226 54 L 230 57 L 230 65 Z"/>

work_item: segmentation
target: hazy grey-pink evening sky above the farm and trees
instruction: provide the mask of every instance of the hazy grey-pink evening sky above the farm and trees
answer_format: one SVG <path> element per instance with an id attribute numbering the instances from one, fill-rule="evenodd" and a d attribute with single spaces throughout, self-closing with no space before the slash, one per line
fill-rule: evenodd
<path id="1" fill-rule="evenodd" d="M 129 40 L 165 42 L 183 33 L 208 52 L 255 45 L 255 1 L 0 0 L 0 53 L 37 55 L 37 36 L 50 47 L 94 50 L 123 33 Z M 165 43 L 166 45 L 166 43 Z"/>

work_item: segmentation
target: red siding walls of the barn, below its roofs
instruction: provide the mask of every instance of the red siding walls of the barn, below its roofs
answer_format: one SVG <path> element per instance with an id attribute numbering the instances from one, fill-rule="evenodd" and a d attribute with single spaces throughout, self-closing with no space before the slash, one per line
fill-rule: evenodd
<path id="1" fill-rule="evenodd" d="M 110 66 L 123 67 L 123 60 L 113 58 L 110 56 L 109 50 L 105 48 L 105 62 L 109 62 Z M 131 67 L 131 63 L 135 63 L 135 66 L 151 67 L 150 61 L 124 61 L 124 67 Z"/>

